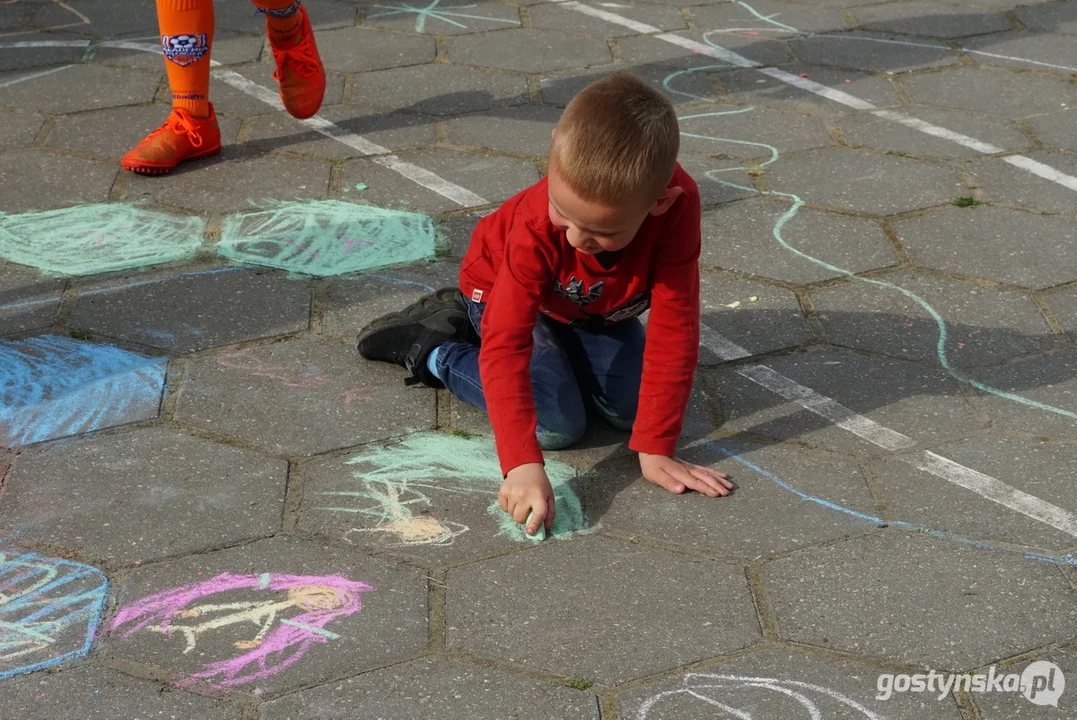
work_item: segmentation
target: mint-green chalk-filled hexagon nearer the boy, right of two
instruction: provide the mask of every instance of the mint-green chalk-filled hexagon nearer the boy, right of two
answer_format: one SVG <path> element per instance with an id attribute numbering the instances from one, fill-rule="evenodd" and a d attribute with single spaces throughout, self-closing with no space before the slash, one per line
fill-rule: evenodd
<path id="1" fill-rule="evenodd" d="M 338 200 L 274 202 L 225 218 L 218 253 L 236 263 L 338 276 L 433 257 L 434 222 Z"/>

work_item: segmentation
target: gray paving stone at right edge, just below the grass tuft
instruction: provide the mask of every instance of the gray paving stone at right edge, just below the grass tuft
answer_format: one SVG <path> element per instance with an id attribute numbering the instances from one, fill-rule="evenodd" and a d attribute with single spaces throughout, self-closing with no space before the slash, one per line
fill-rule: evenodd
<path id="1" fill-rule="evenodd" d="M 1031 178 L 1031 177 L 1030 177 Z M 1073 223 L 1005 208 L 954 209 L 894 225 L 914 265 L 1025 287 L 1077 280 Z M 1051 256 L 1040 249 L 1050 248 Z"/>

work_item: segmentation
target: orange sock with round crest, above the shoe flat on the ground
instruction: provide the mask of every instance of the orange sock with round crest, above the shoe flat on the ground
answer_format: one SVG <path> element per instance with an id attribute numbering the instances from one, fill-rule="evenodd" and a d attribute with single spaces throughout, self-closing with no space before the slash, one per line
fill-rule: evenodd
<path id="1" fill-rule="evenodd" d="M 195 117 L 209 117 L 213 0 L 157 0 L 157 26 L 172 107 Z"/>

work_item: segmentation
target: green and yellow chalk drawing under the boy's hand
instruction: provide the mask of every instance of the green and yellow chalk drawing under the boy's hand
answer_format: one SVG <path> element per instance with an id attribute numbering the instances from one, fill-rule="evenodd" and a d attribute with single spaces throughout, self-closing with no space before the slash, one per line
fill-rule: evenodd
<path id="1" fill-rule="evenodd" d="M 352 477 L 356 486 L 320 493 L 347 499 L 348 504 L 316 508 L 356 516 L 363 526 L 348 531 L 346 539 L 351 539 L 352 534 L 380 535 L 382 545 L 452 545 L 470 528 L 435 517 L 436 507 L 428 493 L 492 497 L 487 512 L 496 521 L 498 535 L 517 542 L 537 542 L 546 535 L 529 536 L 524 526 L 498 505 L 501 466 L 489 438 L 419 433 L 402 442 L 356 455 L 348 464 L 355 467 Z M 589 532 L 579 498 L 569 485 L 576 471 L 564 463 L 547 460 L 546 475 L 557 507 L 548 535 L 563 539 Z"/>

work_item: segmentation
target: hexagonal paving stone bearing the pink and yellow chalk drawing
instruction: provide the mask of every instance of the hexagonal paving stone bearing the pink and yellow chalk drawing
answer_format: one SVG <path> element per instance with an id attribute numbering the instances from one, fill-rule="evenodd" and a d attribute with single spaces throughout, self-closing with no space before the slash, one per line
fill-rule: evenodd
<path id="1" fill-rule="evenodd" d="M 304 540 L 136 569 L 116 599 L 109 653 L 180 687 L 281 693 L 426 645 L 424 573 Z"/>

